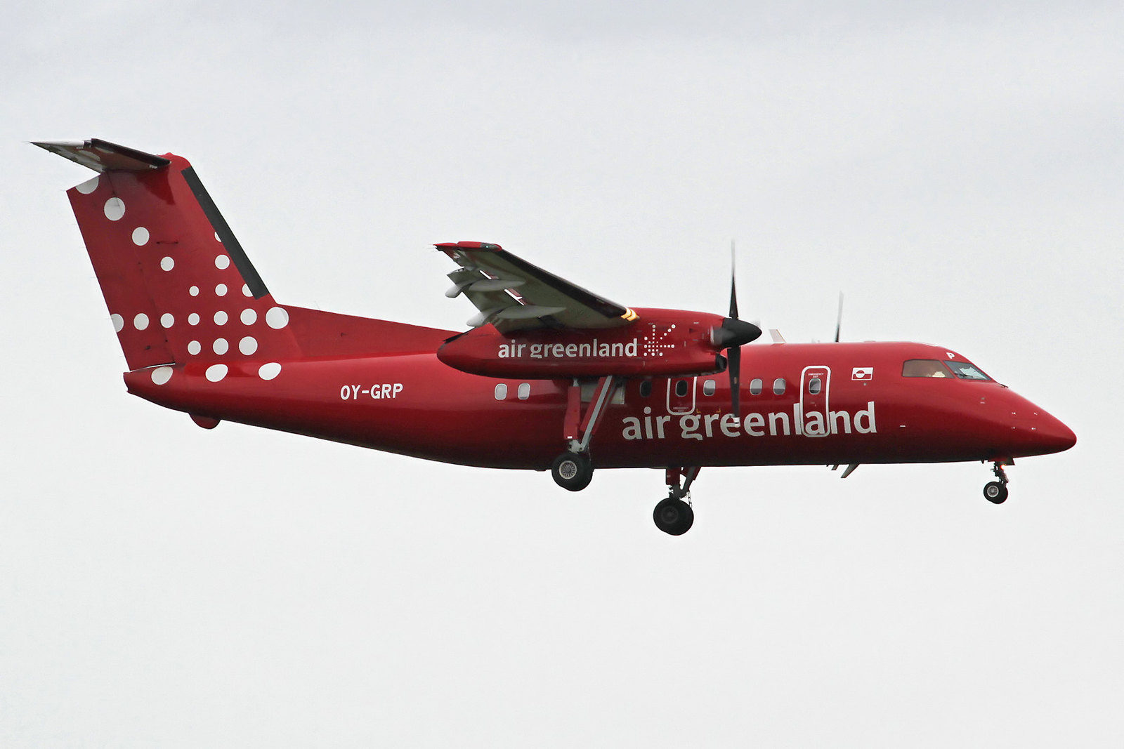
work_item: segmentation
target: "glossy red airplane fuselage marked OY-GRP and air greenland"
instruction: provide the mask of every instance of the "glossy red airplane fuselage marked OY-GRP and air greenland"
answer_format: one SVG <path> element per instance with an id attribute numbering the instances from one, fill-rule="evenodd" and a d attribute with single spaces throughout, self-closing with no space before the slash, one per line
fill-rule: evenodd
<path id="1" fill-rule="evenodd" d="M 996 382 L 901 374 L 907 360 L 953 358 L 964 360 L 909 342 L 749 345 L 741 420 L 722 374 L 627 380 L 590 455 L 606 468 L 990 462 L 1073 444 L 1058 419 Z M 164 384 L 148 369 L 126 383 L 194 415 L 444 463 L 545 469 L 562 444 L 565 380 L 464 374 L 432 351 L 279 364 L 283 387 L 265 386 L 256 364 L 232 365 L 218 383 L 201 365 Z"/>

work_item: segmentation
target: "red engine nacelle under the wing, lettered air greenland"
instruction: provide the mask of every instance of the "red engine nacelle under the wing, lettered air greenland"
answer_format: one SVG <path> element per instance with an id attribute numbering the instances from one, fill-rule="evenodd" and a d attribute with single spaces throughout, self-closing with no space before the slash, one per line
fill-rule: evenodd
<path id="1" fill-rule="evenodd" d="M 437 349 L 448 366 L 489 377 L 599 377 L 697 375 L 720 372 L 725 360 L 711 342 L 723 318 L 705 312 L 635 309 L 619 328 L 541 328 L 505 335 L 492 326 L 450 338 Z"/>

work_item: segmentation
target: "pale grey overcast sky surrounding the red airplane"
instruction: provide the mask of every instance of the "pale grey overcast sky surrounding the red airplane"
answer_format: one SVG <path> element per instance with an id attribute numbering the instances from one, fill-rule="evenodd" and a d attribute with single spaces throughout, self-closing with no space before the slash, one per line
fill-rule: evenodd
<path id="1" fill-rule="evenodd" d="M 25 3 L 0 28 L 0 745 L 1118 747 L 1118 3 Z M 462 329 L 432 243 L 1066 421 L 987 466 L 430 464 L 126 395 L 27 145 L 192 161 L 284 303 Z M 751 359 L 746 365 L 751 366 Z M 1114 436 L 1115 435 L 1115 436 Z"/>

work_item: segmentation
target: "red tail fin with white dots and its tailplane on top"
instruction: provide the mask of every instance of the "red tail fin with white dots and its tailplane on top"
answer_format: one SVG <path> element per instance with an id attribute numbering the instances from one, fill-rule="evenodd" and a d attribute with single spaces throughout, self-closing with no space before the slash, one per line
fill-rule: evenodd
<path id="1" fill-rule="evenodd" d="M 66 191 L 129 369 L 300 354 L 187 159 L 105 140 L 35 145 L 98 175 Z"/>

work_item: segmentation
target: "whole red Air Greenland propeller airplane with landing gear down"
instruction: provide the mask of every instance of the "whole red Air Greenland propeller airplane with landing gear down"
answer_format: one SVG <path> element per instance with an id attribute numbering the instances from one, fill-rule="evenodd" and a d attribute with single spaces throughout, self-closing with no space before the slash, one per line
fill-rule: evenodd
<path id="1" fill-rule="evenodd" d="M 751 346 L 728 314 L 628 308 L 500 245 L 441 243 L 446 296 L 477 313 L 441 330 L 277 302 L 194 168 L 106 140 L 35 143 L 97 174 L 70 189 L 125 354 L 129 393 L 220 421 L 488 468 L 656 468 L 655 526 L 691 528 L 690 490 L 719 466 L 992 464 L 1077 438 L 959 353 L 916 342 Z M 743 373 L 744 367 L 744 373 Z M 744 375 L 744 376 L 743 376 Z"/>

